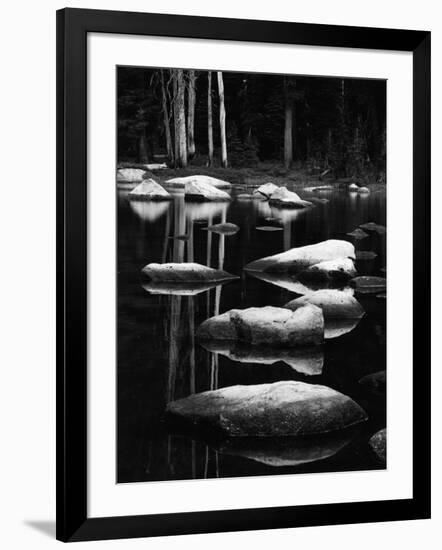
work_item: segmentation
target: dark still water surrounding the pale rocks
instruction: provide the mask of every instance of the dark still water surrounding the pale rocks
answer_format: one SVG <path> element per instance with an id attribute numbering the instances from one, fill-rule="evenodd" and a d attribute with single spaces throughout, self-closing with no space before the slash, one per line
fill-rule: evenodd
<path id="1" fill-rule="evenodd" d="M 194 334 L 202 321 L 234 307 L 282 306 L 295 298 L 281 286 L 245 275 L 243 266 L 295 246 L 329 238 L 351 240 L 346 233 L 364 222 L 385 225 L 385 192 L 304 193 L 305 198 L 329 199 L 305 211 L 277 210 L 266 202 L 236 198 L 231 203 L 190 204 L 179 191 L 174 193 L 170 203 L 148 203 L 130 202 L 127 191 L 118 192 L 118 482 L 380 468 L 368 439 L 385 427 L 385 391 L 358 381 L 386 368 L 385 300 L 359 298 L 365 317 L 349 333 L 315 351 L 313 364 L 319 370 L 313 375 L 302 366 L 295 370 L 298 363 L 284 358 L 267 358 L 271 364 L 263 364 L 247 349 L 236 350 L 234 358 L 208 351 Z M 244 190 L 233 191 L 234 196 L 238 193 Z M 268 217 L 280 218 L 283 230 L 257 230 L 271 223 Z M 204 221 L 233 222 L 240 231 L 220 236 L 204 230 Z M 189 238 L 169 238 L 174 235 Z M 355 246 L 378 254 L 374 261 L 357 263 L 359 274 L 383 275 L 385 236 L 373 234 Z M 241 278 L 193 296 L 145 290 L 142 267 L 171 261 L 195 261 Z M 301 357 L 299 365 L 309 361 L 311 357 Z M 204 434 L 186 434 L 164 420 L 170 400 L 278 380 L 335 388 L 361 404 L 370 419 L 356 432 L 324 441 L 286 440 L 282 448 L 272 441 L 265 448 L 252 441 L 242 447 L 209 441 Z"/>

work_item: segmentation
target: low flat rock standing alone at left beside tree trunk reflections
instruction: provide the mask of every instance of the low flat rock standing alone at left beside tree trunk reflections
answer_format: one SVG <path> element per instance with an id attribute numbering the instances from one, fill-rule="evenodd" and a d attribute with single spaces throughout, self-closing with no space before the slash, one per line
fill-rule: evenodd
<path id="1" fill-rule="evenodd" d="M 155 283 L 202 283 L 238 279 L 237 275 L 231 275 L 226 271 L 191 262 L 152 263 L 143 267 L 142 272 Z"/>

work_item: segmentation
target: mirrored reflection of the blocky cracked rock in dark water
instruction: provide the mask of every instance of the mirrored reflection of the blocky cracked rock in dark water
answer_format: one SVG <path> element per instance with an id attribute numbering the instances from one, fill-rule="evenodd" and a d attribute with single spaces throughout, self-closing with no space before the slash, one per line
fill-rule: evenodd
<path id="1" fill-rule="evenodd" d="M 223 355 L 231 361 L 260 365 L 273 365 L 282 362 L 306 376 L 322 374 L 324 366 L 324 352 L 321 346 L 272 348 L 222 340 L 203 341 L 201 345 L 208 351 Z"/>

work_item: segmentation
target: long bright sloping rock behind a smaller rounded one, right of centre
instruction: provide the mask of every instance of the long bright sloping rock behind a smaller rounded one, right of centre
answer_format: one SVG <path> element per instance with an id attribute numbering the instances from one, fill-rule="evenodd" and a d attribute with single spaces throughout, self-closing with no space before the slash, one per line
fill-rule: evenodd
<path id="1" fill-rule="evenodd" d="M 299 273 L 320 262 L 341 258 L 355 259 L 354 246 L 348 241 L 330 239 L 255 260 L 247 264 L 244 269 L 268 273 Z"/>

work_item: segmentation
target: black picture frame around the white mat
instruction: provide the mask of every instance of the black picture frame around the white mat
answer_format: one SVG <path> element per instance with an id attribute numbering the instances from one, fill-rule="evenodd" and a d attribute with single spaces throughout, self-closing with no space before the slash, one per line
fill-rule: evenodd
<path id="1" fill-rule="evenodd" d="M 88 518 L 86 39 L 91 32 L 412 52 L 413 498 Z M 429 517 L 430 33 L 117 11 L 58 11 L 57 538 L 85 541 Z"/>

